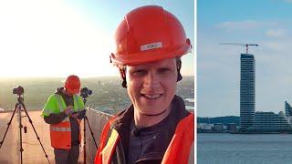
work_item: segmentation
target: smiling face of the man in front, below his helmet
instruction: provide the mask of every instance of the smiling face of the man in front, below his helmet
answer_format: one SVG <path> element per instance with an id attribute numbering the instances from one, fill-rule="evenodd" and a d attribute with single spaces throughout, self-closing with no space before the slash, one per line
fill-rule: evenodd
<path id="1" fill-rule="evenodd" d="M 155 115 L 171 107 L 177 81 L 176 59 L 129 66 L 127 90 L 135 110 Z"/>

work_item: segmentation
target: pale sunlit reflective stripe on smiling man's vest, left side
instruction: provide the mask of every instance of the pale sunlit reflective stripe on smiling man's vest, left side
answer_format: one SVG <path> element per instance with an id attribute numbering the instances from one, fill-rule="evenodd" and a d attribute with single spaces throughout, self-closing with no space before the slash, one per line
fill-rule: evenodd
<path id="1" fill-rule="evenodd" d="M 117 130 L 112 129 L 109 141 L 108 141 L 106 147 L 104 149 L 102 149 L 102 151 L 101 151 L 101 157 L 102 157 L 103 164 L 110 163 L 111 156 L 115 150 L 114 148 L 116 148 L 116 145 L 118 143 L 119 138 L 120 137 L 119 137 Z"/>

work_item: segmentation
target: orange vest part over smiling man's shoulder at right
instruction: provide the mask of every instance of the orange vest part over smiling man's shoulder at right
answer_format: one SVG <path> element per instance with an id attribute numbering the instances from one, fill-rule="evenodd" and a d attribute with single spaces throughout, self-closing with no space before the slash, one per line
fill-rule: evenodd
<path id="1" fill-rule="evenodd" d="M 176 126 L 172 141 L 164 153 L 162 164 L 187 163 L 194 140 L 194 115 L 191 113 Z"/>

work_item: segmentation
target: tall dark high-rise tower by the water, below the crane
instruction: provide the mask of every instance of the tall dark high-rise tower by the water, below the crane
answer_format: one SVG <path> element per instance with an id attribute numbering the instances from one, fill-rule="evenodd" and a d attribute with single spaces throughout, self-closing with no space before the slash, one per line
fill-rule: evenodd
<path id="1" fill-rule="evenodd" d="M 253 126 L 255 117 L 255 57 L 240 56 L 240 128 Z"/>

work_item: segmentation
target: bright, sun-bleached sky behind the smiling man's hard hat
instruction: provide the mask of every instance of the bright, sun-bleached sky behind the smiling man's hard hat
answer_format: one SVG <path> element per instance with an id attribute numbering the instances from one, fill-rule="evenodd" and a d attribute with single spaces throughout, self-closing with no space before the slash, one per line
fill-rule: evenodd
<path id="1" fill-rule="evenodd" d="M 0 1 L 0 77 L 119 76 L 109 62 L 114 31 L 141 5 L 162 5 L 194 41 L 192 0 Z M 183 57 L 183 75 L 194 74 L 193 54 Z"/>

